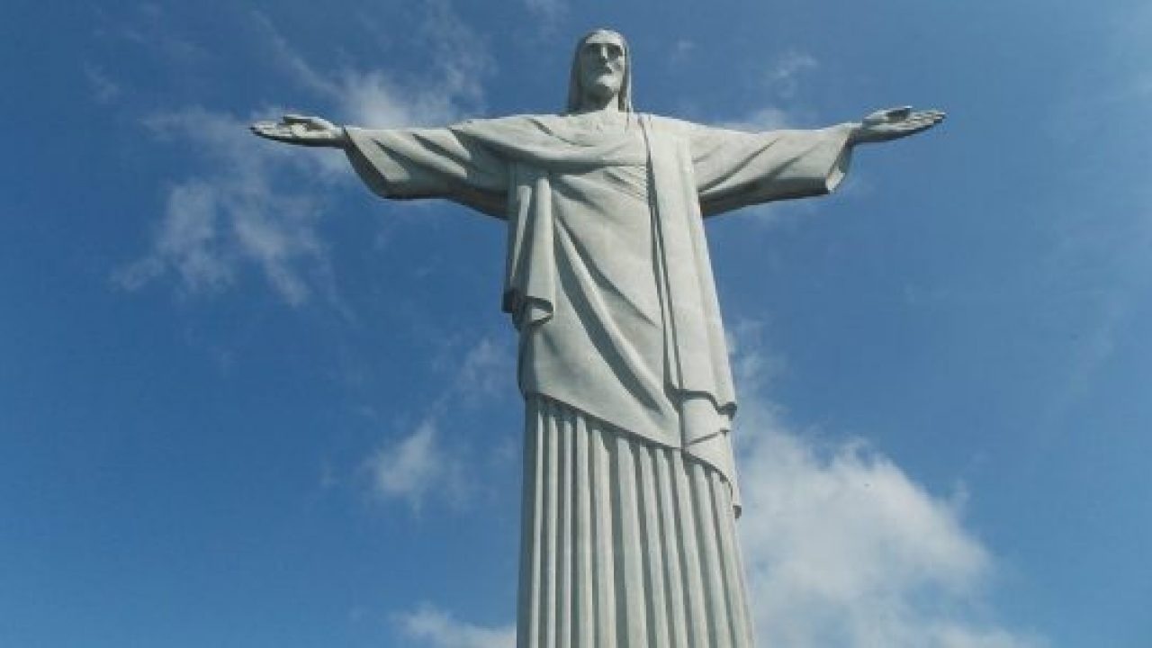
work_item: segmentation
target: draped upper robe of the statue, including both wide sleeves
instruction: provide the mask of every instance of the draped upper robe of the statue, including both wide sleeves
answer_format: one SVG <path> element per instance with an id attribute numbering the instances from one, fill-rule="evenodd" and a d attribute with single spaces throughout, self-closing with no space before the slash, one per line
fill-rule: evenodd
<path id="1" fill-rule="evenodd" d="M 520 331 L 525 397 L 707 462 L 738 507 L 736 397 L 703 218 L 831 191 L 848 167 L 847 127 L 749 134 L 639 115 L 604 133 L 579 116 L 523 115 L 347 131 L 377 194 L 508 221 L 502 307 Z"/>

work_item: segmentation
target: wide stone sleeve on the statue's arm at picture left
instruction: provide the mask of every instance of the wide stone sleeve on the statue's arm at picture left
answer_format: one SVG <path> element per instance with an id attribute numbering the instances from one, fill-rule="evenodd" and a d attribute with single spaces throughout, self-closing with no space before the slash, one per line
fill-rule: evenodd
<path id="1" fill-rule="evenodd" d="M 508 218 L 509 163 L 456 127 L 373 130 L 346 128 L 348 159 L 385 198 L 447 198 Z"/>

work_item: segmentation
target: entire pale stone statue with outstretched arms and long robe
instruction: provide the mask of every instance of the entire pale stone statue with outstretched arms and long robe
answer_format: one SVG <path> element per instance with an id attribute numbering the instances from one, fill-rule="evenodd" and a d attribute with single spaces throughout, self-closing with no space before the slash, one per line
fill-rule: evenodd
<path id="1" fill-rule="evenodd" d="M 506 221 L 526 402 L 517 646 L 749 647 L 736 397 L 704 219 L 826 194 L 855 145 L 943 114 L 740 133 L 636 113 L 630 89 L 624 38 L 597 30 L 560 115 L 388 130 L 286 115 L 252 130 L 343 149 L 386 198 Z"/>

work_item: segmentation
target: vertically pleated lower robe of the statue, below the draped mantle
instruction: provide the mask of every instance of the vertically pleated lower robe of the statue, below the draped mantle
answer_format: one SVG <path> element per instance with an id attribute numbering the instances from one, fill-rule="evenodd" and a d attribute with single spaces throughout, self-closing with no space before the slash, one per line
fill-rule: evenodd
<path id="1" fill-rule="evenodd" d="M 718 470 L 528 400 L 518 648 L 753 645 Z"/>

